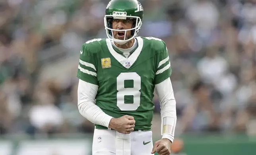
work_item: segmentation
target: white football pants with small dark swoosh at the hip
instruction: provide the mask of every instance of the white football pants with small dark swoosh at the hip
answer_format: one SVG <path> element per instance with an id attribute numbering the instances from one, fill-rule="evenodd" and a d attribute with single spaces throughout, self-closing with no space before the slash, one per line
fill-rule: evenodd
<path id="1" fill-rule="evenodd" d="M 152 149 L 152 131 L 121 134 L 115 130 L 94 130 L 92 155 L 152 155 Z"/>

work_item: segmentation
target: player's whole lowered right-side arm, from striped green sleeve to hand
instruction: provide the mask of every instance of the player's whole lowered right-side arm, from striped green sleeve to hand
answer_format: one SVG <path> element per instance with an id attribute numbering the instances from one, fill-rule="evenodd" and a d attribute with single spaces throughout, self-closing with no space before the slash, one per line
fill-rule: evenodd
<path id="1" fill-rule="evenodd" d="M 164 43 L 164 42 L 163 42 Z M 174 140 L 176 126 L 176 101 L 171 84 L 171 63 L 167 48 L 163 46 L 162 51 L 156 57 L 155 91 L 158 95 L 161 108 L 161 135 L 162 139 L 155 142 L 152 154 L 171 153 L 171 143 Z"/>

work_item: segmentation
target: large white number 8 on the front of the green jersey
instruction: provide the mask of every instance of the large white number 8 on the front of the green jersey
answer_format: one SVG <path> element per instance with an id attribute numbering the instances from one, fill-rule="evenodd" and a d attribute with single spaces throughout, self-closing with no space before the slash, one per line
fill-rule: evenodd
<path id="1" fill-rule="evenodd" d="M 133 80 L 133 88 L 124 88 L 124 80 Z M 140 89 L 141 89 L 141 78 L 136 72 L 121 73 L 116 77 L 116 88 L 117 88 L 117 106 L 122 111 L 135 111 L 140 106 Z M 133 95 L 133 104 L 124 103 L 125 95 Z"/>

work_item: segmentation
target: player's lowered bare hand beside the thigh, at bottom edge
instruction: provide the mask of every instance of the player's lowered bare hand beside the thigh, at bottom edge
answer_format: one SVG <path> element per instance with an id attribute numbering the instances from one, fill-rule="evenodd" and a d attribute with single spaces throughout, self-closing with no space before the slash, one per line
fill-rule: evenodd
<path id="1" fill-rule="evenodd" d="M 155 142 L 151 154 L 157 152 L 159 155 L 170 155 L 171 154 L 171 140 L 163 138 Z"/>

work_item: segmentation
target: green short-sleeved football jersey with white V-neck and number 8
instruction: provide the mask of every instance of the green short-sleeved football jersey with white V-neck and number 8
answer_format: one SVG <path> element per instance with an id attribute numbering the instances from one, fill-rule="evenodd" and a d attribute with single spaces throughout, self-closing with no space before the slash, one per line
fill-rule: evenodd
<path id="1" fill-rule="evenodd" d="M 109 39 L 83 44 L 77 77 L 98 85 L 95 104 L 118 118 L 133 116 L 135 130 L 151 130 L 155 85 L 171 76 L 165 42 L 153 37 L 136 37 L 138 47 L 125 57 Z M 96 129 L 106 127 L 96 125 Z"/>

